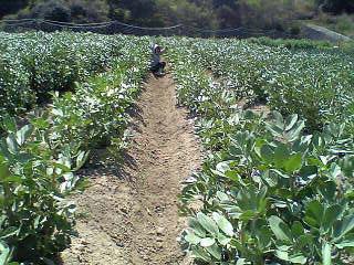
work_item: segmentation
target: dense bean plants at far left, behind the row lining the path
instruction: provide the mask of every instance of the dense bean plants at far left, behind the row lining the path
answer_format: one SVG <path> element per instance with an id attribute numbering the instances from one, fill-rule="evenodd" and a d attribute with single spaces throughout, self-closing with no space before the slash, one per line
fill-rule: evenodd
<path id="1" fill-rule="evenodd" d="M 0 117 L 74 88 L 112 65 L 128 39 L 91 33 L 0 33 Z"/>

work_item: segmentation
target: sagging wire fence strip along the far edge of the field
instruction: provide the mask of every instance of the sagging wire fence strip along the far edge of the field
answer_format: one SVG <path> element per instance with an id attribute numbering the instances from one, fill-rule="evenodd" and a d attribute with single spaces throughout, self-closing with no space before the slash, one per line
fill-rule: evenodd
<path id="1" fill-rule="evenodd" d="M 101 34 L 134 34 L 134 35 L 187 35 L 199 38 L 292 38 L 292 35 L 277 30 L 256 30 L 248 28 L 232 29 L 199 29 L 185 24 L 176 24 L 165 28 L 147 28 L 126 24 L 119 21 L 108 21 L 101 23 L 70 23 L 43 19 L 20 19 L 20 20 L 0 20 L 0 30 L 6 32 L 25 32 L 25 31 L 73 31 L 73 32 L 94 32 Z"/>

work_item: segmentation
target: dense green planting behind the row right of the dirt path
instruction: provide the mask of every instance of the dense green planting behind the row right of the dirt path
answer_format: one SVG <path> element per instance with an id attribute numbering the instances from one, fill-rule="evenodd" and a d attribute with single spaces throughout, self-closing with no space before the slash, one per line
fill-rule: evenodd
<path id="1" fill-rule="evenodd" d="M 311 131 L 343 120 L 354 129 L 354 61 L 340 51 L 290 51 L 236 40 L 178 43 L 242 98 L 268 103 L 285 116 L 296 113 Z"/>

